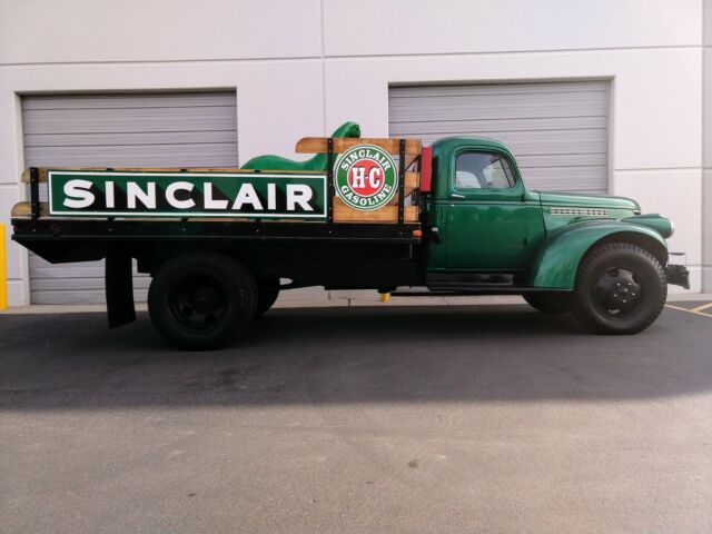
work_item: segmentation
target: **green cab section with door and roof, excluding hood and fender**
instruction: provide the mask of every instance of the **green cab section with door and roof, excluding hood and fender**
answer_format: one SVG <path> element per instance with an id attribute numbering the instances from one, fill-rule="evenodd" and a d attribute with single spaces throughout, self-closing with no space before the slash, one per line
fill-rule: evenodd
<path id="1" fill-rule="evenodd" d="M 538 194 L 501 142 L 448 138 L 433 146 L 435 188 L 427 217 L 441 239 L 428 274 L 507 274 L 521 280 L 546 231 Z"/>

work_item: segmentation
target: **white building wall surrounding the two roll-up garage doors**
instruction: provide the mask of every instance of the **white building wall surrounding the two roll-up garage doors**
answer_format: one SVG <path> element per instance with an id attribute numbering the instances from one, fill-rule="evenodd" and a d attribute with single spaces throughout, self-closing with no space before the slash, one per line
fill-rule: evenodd
<path id="1" fill-rule="evenodd" d="M 6 222 L 24 195 L 18 185 L 23 93 L 237 89 L 239 155 L 246 161 L 265 152 L 290 155 L 299 137 L 327 134 L 345 120 L 358 121 L 365 135 L 386 136 L 389 85 L 610 79 L 610 189 L 674 219 L 671 249 L 688 254 L 692 289 L 701 289 L 703 26 L 708 37 L 712 26 L 710 9 L 703 24 L 701 0 L 0 6 Z M 710 66 L 709 53 L 704 63 Z M 710 206 L 712 150 L 705 147 Z M 705 233 L 708 266 L 711 234 Z M 8 250 L 10 304 L 24 304 L 27 254 L 13 244 Z"/>

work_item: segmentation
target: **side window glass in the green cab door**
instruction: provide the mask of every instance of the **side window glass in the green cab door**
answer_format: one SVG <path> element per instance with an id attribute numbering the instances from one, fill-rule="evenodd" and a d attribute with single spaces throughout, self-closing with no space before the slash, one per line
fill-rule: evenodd
<path id="1" fill-rule="evenodd" d="M 514 186 L 512 169 L 504 156 L 463 152 L 455 161 L 456 189 L 508 189 Z"/>

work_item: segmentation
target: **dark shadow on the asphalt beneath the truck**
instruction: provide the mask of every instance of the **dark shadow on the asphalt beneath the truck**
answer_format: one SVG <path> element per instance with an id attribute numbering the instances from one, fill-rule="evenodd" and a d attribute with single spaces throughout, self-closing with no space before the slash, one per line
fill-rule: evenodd
<path id="1" fill-rule="evenodd" d="M 712 387 L 711 324 L 665 310 L 594 336 L 527 306 L 278 309 L 234 347 L 168 347 L 148 317 L 0 317 L 0 407 L 659 397 Z"/>

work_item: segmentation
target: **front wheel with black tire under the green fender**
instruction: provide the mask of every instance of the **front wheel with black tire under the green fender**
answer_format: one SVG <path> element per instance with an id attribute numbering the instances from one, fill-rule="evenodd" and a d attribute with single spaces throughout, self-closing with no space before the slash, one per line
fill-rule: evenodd
<path id="1" fill-rule="evenodd" d="M 612 243 L 582 260 L 572 312 L 589 330 L 636 334 L 657 318 L 666 297 L 660 261 L 639 246 Z"/>

